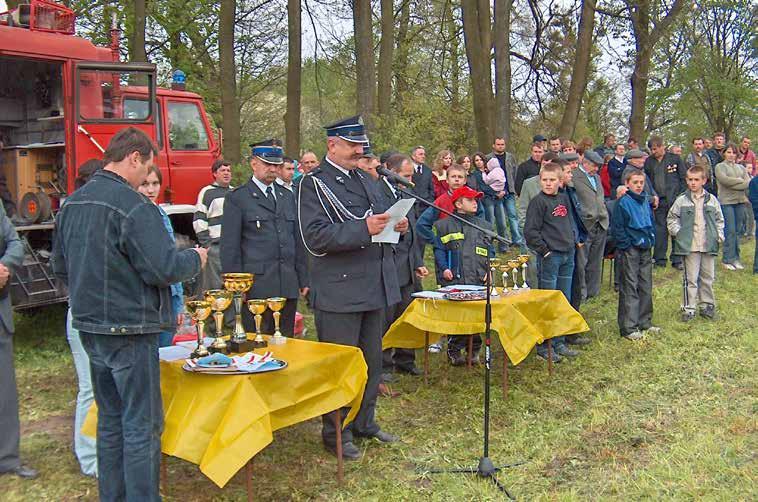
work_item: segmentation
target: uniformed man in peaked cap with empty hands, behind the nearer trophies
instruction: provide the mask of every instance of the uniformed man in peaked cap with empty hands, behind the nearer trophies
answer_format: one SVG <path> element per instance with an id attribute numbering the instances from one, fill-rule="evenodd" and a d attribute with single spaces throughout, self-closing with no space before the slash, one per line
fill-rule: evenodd
<path id="1" fill-rule="evenodd" d="M 276 140 L 251 145 L 250 181 L 226 195 L 221 220 L 221 269 L 255 275 L 247 298 L 284 297 L 280 329 L 295 331 L 298 293 L 306 294 L 305 256 L 295 225 L 295 196 L 276 183 L 284 153 Z M 243 309 L 246 331 L 254 330 L 252 314 Z M 261 330 L 274 332 L 270 310 L 263 314 Z"/>

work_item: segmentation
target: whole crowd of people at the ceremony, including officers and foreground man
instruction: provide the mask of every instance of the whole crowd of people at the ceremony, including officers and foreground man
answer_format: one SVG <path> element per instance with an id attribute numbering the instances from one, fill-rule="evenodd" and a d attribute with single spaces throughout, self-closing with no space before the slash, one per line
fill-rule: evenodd
<path id="1" fill-rule="evenodd" d="M 391 392 L 386 384 L 393 374 L 421 374 L 413 350 L 382 351 L 381 340 L 430 274 L 427 246 L 439 286 L 483 285 L 498 253 L 529 254 L 528 282 L 560 290 L 577 310 L 599 294 L 603 260 L 614 259 L 618 329 L 638 340 L 660 331 L 652 324 L 653 266 L 670 262 L 683 270 L 683 322 L 698 314 L 713 319 L 719 247 L 724 270 L 736 273 L 744 268 L 740 238 L 755 232 L 758 165 L 747 137 L 739 146 L 721 133 L 695 138 L 683 156 L 657 136 L 643 148 L 634 138 L 618 143 L 609 134 L 593 148 L 586 138 L 536 135 L 521 163 L 497 137 L 489 153 L 454 159 L 441 150 L 430 167 L 423 146 L 409 155 L 377 156 L 360 117 L 325 131 L 320 161 L 313 152 L 289 159 L 278 140 L 251 145 L 251 174 L 239 187 L 231 185 L 231 165 L 214 162 L 194 214 L 198 246 L 185 250 L 177 249 L 170 220 L 156 203 L 161 172 L 146 135 L 122 130 L 101 163 L 80 169 L 79 188 L 57 218 L 52 261 L 70 291 L 68 337 L 80 382 L 76 454 L 82 471 L 98 477 L 101 498 L 157 499 L 158 348 L 172 343 L 187 293 L 182 283 L 197 293 L 221 288 L 222 273 L 252 273 L 248 298 L 287 299 L 282 333 L 294 335 L 302 299 L 320 341 L 360 347 L 368 381 L 361 408 L 342 434 L 343 456 L 357 459 L 360 438 L 398 440 L 379 427 L 374 413 L 380 393 Z M 381 175 L 385 169 L 392 175 Z M 397 178 L 412 182 L 413 195 L 434 205 L 417 200 L 394 226 L 397 244 L 375 243 L 372 237 L 389 222 L 386 210 L 411 197 Z M 482 228 L 501 238 L 493 242 Z M 252 317 L 243 312 L 252 331 Z M 263 331 L 273 325 L 267 311 Z M 481 339 L 474 335 L 468 348 L 467 336 L 447 337 L 453 366 L 479 361 Z M 538 357 L 576 357 L 590 339 L 573 334 L 552 343 L 552 352 L 538 345 Z M 93 398 L 96 442 L 79 432 Z M 323 418 L 322 439 L 336 453 L 331 416 Z"/>

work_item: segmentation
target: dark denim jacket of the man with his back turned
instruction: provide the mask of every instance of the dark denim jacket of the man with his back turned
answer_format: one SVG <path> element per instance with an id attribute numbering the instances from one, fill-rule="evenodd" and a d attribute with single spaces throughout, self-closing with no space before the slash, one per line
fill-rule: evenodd
<path id="1" fill-rule="evenodd" d="M 134 335 L 174 328 L 171 284 L 200 272 L 158 207 L 112 171 L 98 171 L 58 213 L 53 271 L 68 285 L 73 327 Z"/>

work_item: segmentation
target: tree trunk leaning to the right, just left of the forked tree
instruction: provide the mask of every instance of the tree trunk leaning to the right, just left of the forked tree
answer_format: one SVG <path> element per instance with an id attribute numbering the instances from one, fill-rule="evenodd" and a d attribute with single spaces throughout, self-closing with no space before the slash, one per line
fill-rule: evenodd
<path id="1" fill-rule="evenodd" d="M 574 66 L 571 70 L 571 85 L 569 85 L 566 107 L 563 109 L 558 135 L 562 138 L 572 138 L 579 120 L 582 99 L 587 90 L 589 80 L 590 56 L 592 54 L 592 32 L 595 27 L 595 0 L 582 2 L 582 14 L 579 18 L 579 33 L 577 34 Z"/>

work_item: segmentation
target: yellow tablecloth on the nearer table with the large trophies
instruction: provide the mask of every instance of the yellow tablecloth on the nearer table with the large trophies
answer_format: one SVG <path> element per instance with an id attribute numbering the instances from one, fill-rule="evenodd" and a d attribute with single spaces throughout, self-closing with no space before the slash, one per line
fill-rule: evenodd
<path id="1" fill-rule="evenodd" d="M 256 375 L 202 375 L 184 371 L 183 361 L 162 361 L 163 453 L 198 464 L 223 487 L 271 443 L 275 430 L 343 406 L 351 407 L 347 421 L 352 421 L 368 378 L 360 349 L 288 339 L 266 350 L 287 361 L 287 368 Z M 92 406 L 82 430 L 94 436 L 96 423 Z"/>

